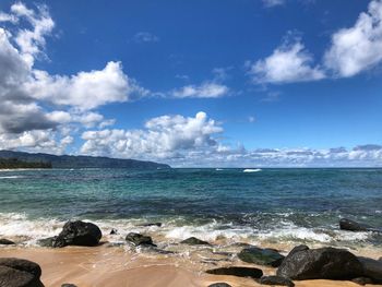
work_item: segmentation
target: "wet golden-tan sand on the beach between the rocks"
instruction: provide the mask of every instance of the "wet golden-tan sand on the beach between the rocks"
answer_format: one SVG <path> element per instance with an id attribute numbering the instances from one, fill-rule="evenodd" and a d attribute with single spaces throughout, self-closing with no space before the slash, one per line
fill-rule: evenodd
<path id="1" fill-rule="evenodd" d="M 361 254 L 379 258 L 382 252 L 379 254 L 362 252 Z M 72 283 L 79 287 L 202 287 L 217 282 L 226 282 L 234 287 L 260 286 L 251 278 L 204 273 L 207 268 L 218 266 L 254 266 L 242 262 L 198 263 L 195 260 L 177 254 L 168 256 L 158 253 L 136 253 L 107 244 L 95 248 L 67 247 L 63 249 L 7 247 L 0 249 L 0 256 L 22 258 L 38 263 L 43 268 L 41 280 L 45 286 Z M 275 268 L 255 267 L 263 270 L 265 275 L 275 273 Z M 297 287 L 359 286 L 351 282 L 334 280 L 305 280 L 295 282 L 295 284 Z"/>

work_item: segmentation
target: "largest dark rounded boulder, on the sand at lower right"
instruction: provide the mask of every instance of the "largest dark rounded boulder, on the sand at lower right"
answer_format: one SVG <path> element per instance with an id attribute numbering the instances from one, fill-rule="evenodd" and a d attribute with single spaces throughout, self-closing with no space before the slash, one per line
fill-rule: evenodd
<path id="1" fill-rule="evenodd" d="M 361 263 L 350 252 L 335 248 L 308 249 L 288 255 L 277 275 L 291 279 L 353 279 L 363 275 Z"/>

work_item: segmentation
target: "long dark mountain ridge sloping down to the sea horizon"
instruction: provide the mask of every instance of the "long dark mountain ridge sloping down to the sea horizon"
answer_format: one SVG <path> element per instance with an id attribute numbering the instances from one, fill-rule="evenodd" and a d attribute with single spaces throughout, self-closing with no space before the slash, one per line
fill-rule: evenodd
<path id="1" fill-rule="evenodd" d="M 170 168 L 168 165 L 135 159 L 118 159 L 96 156 L 29 154 L 23 152 L 0 151 L 0 158 L 16 159 L 25 163 L 51 164 L 52 168 L 142 168 L 158 169 Z"/>

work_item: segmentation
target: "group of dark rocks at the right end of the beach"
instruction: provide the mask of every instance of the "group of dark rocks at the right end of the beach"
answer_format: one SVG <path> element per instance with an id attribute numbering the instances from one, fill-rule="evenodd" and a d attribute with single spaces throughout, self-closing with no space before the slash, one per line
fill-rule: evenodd
<path id="1" fill-rule="evenodd" d="M 380 229 L 349 219 L 341 219 L 339 228 L 348 231 L 382 232 Z M 208 274 L 252 277 L 262 285 L 295 286 L 293 280 L 331 279 L 351 280 L 359 285 L 382 284 L 382 259 L 356 256 L 344 249 L 295 247 L 287 256 L 274 249 L 244 248 L 238 258 L 247 263 L 277 267 L 276 275 L 263 276 L 255 267 L 230 266 L 208 270 Z M 215 283 L 208 287 L 229 287 Z"/>

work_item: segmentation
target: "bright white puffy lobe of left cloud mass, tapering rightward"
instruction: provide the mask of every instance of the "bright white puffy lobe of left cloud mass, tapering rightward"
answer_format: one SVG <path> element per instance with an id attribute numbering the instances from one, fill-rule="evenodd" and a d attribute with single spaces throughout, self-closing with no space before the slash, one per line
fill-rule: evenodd
<path id="1" fill-rule="evenodd" d="M 108 62 L 104 70 L 80 72 L 72 76 L 50 75 L 35 70 L 33 79 L 25 83 L 25 91 L 36 99 L 83 110 L 127 101 L 134 93 L 148 93 L 123 73 L 120 62 Z"/>

